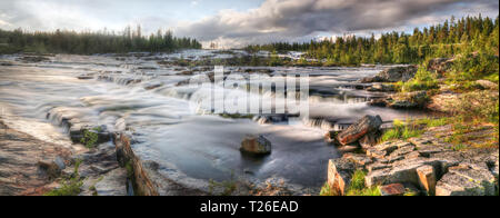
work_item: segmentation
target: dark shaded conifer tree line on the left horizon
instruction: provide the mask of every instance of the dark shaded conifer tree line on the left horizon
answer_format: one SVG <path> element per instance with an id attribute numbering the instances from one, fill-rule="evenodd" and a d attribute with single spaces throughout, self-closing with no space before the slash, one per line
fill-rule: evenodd
<path id="1" fill-rule="evenodd" d="M 192 38 L 174 37 L 172 31 L 142 36 L 141 27 L 127 27 L 122 32 L 108 31 L 7 31 L 0 29 L 0 53 L 124 53 L 124 52 L 172 52 L 179 49 L 201 49 Z"/>

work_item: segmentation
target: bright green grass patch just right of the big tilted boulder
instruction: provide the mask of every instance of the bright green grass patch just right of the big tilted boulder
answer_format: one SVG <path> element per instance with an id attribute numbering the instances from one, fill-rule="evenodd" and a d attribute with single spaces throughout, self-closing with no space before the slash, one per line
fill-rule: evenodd
<path id="1" fill-rule="evenodd" d="M 422 130 L 419 128 L 419 125 L 410 120 L 409 123 L 404 123 L 400 120 L 393 121 L 394 128 L 387 130 L 383 132 L 380 138 L 380 142 L 390 141 L 390 140 L 408 140 L 410 138 L 420 137 L 422 135 Z"/>

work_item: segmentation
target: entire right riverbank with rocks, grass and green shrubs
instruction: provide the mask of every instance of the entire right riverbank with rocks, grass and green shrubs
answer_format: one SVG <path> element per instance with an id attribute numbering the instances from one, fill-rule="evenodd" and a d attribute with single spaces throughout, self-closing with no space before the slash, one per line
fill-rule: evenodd
<path id="1" fill-rule="evenodd" d="M 330 160 L 322 194 L 498 196 L 498 82 L 450 82 L 450 75 L 459 73 L 454 61 L 432 59 L 426 69 L 398 67 L 362 79 L 383 82 L 368 85 L 369 91 L 393 92 L 371 106 L 443 117 L 380 130 L 380 118 L 367 116 L 342 132 L 327 133 L 329 141 L 354 149 Z"/>

